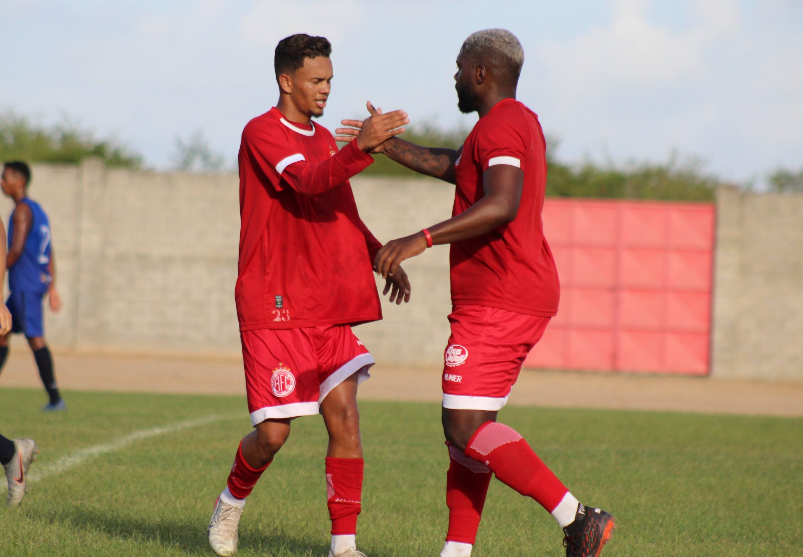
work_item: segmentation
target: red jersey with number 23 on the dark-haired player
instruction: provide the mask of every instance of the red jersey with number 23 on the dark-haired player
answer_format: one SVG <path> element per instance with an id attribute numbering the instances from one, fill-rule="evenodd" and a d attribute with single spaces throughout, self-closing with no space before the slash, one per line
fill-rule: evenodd
<path id="1" fill-rule="evenodd" d="M 349 184 L 371 162 L 356 142 L 339 151 L 328 129 L 279 109 L 248 122 L 238 157 L 240 330 L 381 319 L 372 264 L 381 244 Z"/>

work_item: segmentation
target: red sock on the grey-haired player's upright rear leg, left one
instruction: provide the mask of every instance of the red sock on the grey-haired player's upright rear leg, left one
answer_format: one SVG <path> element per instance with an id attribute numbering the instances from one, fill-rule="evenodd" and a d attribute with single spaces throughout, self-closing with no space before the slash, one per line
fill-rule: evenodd
<path id="1" fill-rule="evenodd" d="M 449 441 L 446 445 L 449 447 L 449 471 L 446 473 L 449 530 L 446 541 L 474 545 L 491 483 L 491 470 L 461 453 Z"/>

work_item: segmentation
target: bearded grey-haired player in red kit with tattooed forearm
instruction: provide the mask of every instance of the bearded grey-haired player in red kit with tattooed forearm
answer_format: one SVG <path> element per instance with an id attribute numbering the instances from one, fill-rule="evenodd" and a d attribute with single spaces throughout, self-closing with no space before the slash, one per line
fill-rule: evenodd
<path id="1" fill-rule="evenodd" d="M 375 262 L 382 276 L 394 276 L 402 260 L 451 244 L 453 309 L 442 377 L 449 530 L 442 557 L 471 555 L 491 473 L 556 518 L 566 555 L 597 557 L 614 526 L 610 514 L 581 505 L 518 432 L 496 422 L 560 293 L 541 221 L 544 135 L 536 114 L 516 100 L 523 63 L 524 50 L 509 31 L 471 35 L 454 80 L 459 109 L 476 111 L 479 121 L 463 147 L 431 149 L 394 138 L 374 151 L 457 186 L 451 219 L 385 244 Z M 349 141 L 357 129 L 337 133 Z"/>

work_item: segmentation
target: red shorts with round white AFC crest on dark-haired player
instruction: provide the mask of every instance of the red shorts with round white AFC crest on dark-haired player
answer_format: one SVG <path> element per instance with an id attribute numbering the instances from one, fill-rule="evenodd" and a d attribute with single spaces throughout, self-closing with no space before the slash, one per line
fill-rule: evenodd
<path id="1" fill-rule="evenodd" d="M 320 412 L 333 388 L 357 371 L 369 378 L 373 356 L 348 325 L 240 333 L 251 424 Z"/>

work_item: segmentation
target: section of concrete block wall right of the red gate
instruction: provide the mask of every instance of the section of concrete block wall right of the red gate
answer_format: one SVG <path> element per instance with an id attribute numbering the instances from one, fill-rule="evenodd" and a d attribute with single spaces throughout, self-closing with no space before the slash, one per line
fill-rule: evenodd
<path id="1" fill-rule="evenodd" d="M 716 378 L 803 380 L 803 195 L 717 192 Z"/>

